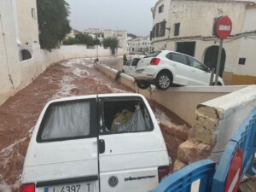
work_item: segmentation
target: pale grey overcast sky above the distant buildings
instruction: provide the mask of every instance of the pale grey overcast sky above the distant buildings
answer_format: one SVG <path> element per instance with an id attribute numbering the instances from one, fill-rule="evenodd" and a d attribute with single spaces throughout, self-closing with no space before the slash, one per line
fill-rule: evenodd
<path id="1" fill-rule="evenodd" d="M 139 36 L 152 29 L 151 8 L 157 0 L 66 0 L 70 5 L 71 26 L 126 30 Z"/>

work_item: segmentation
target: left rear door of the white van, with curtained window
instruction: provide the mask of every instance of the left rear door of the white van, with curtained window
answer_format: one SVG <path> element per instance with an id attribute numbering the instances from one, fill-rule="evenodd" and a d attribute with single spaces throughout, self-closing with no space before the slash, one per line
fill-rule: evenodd
<path id="1" fill-rule="evenodd" d="M 27 149 L 22 183 L 36 191 L 98 191 L 96 96 L 50 102 Z"/>

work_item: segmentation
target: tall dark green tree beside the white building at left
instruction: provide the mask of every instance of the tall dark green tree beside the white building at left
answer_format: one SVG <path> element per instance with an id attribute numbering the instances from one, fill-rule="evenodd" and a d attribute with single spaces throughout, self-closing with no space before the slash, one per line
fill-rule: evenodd
<path id="1" fill-rule="evenodd" d="M 39 42 L 42 49 L 55 49 L 71 31 L 65 0 L 37 0 Z"/>

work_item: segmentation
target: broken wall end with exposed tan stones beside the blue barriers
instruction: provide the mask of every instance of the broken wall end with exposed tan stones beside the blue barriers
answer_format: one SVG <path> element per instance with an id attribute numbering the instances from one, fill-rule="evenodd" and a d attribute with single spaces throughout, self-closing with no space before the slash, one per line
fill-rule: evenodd
<path id="1" fill-rule="evenodd" d="M 189 140 L 177 150 L 174 171 L 196 160 L 209 158 L 218 163 L 224 146 L 253 108 L 256 85 L 199 104 Z"/>

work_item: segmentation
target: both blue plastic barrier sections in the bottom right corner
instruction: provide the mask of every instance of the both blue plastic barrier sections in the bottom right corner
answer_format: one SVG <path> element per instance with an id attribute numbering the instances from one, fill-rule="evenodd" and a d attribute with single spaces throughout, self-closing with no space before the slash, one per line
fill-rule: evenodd
<path id="1" fill-rule="evenodd" d="M 255 152 L 256 108 L 247 116 L 235 136 L 225 146 L 216 170 L 214 161 L 199 160 L 166 177 L 156 189 L 150 192 L 190 192 L 192 183 L 199 179 L 199 192 L 223 192 L 229 183 L 229 189 L 236 189 L 245 173 L 256 175 L 256 169 L 253 167 Z M 229 177 L 231 181 L 227 181 L 228 175 L 232 175 L 230 165 L 234 164 L 233 161 L 236 166 L 241 166 L 241 170 L 238 169 L 238 172 L 236 170 L 234 178 Z"/>

